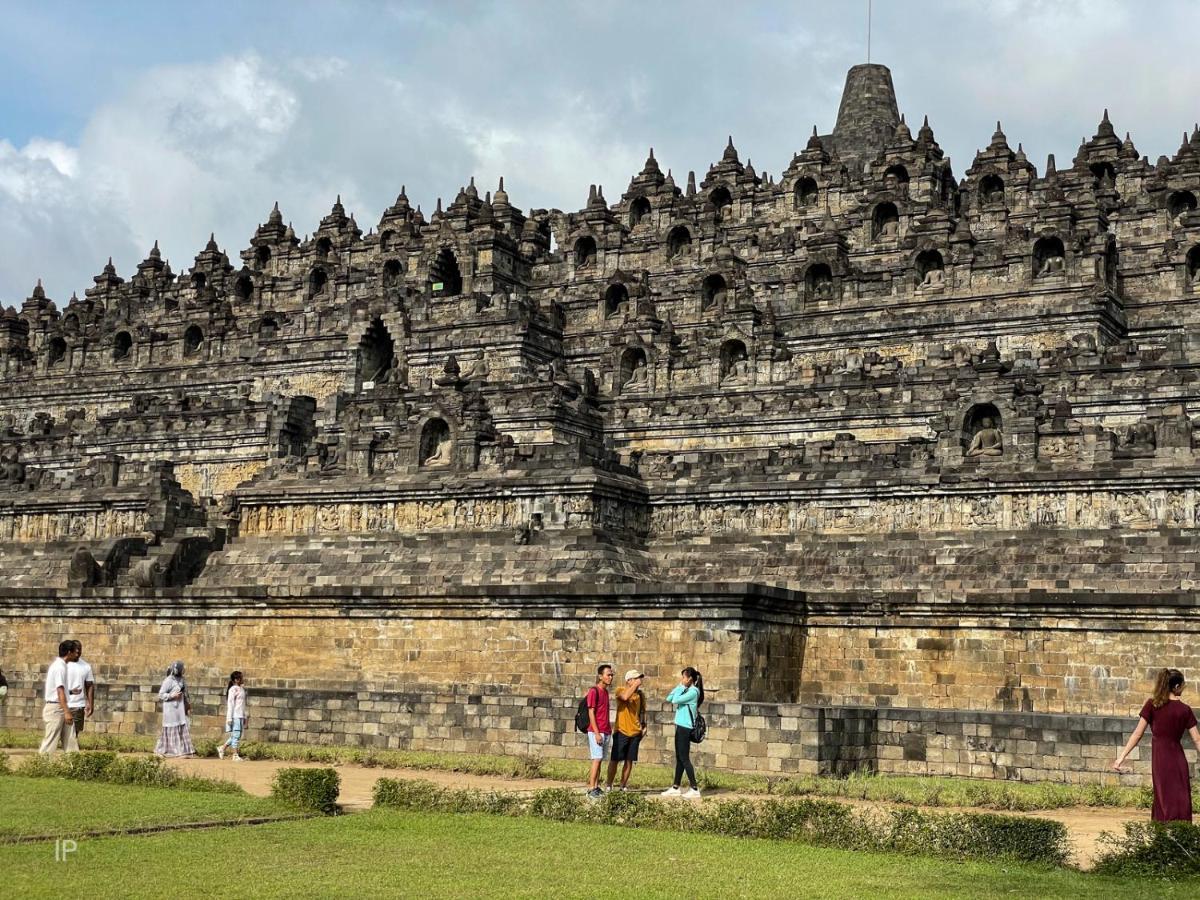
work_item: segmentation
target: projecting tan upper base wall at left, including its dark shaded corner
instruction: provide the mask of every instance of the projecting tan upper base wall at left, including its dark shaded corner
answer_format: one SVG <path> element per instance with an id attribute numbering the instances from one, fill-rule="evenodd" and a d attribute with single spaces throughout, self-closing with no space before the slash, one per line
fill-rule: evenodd
<path id="1" fill-rule="evenodd" d="M 106 682 L 157 683 L 181 659 L 197 684 L 240 668 L 287 690 L 473 685 L 557 697 L 611 662 L 660 683 L 692 665 L 731 700 L 794 701 L 797 680 L 780 674 L 798 672 L 804 650 L 797 595 L 744 584 L 463 588 L 454 598 L 161 593 L 154 604 L 112 589 L 30 602 L 0 590 L 4 668 L 42 671 L 60 637 L 74 637 Z"/>

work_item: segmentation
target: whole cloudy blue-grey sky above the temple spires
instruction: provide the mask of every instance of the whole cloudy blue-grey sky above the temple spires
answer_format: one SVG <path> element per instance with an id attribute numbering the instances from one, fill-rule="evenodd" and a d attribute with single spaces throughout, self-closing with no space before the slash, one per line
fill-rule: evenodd
<path id="1" fill-rule="evenodd" d="M 680 185 L 732 133 L 776 174 L 832 128 L 866 0 L 0 0 L 0 304 L 65 304 L 157 239 L 233 257 L 271 204 L 366 229 L 472 175 L 522 209 L 610 202 L 654 146 Z M 961 175 L 1001 119 L 1039 170 L 1108 107 L 1156 160 L 1200 119 L 1195 0 L 875 0 L 872 61 Z"/>

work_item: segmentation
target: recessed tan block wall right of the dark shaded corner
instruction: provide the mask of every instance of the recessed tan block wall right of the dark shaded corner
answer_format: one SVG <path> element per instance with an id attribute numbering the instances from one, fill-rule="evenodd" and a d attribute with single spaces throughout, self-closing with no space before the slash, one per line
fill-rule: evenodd
<path id="1" fill-rule="evenodd" d="M 844 624 L 810 620 L 805 703 L 1124 715 L 1159 668 L 1200 673 L 1194 619 L 1120 625 L 1073 617 Z"/>

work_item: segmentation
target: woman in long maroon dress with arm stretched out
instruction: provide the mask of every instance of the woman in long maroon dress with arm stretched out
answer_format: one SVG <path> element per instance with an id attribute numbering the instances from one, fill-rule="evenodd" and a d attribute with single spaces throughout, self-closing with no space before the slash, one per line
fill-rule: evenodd
<path id="1" fill-rule="evenodd" d="M 1153 734 L 1150 744 L 1150 772 L 1154 782 L 1154 809 L 1151 818 L 1156 822 L 1192 821 L 1192 779 L 1188 758 L 1180 740 L 1183 732 L 1192 736 L 1192 743 L 1200 749 L 1200 730 L 1192 707 L 1180 700 L 1183 692 L 1183 673 L 1177 668 L 1164 668 L 1154 682 L 1154 696 L 1141 708 L 1138 727 L 1133 730 L 1124 749 L 1117 755 L 1112 768 L 1126 772 L 1121 764 L 1138 746 L 1146 726 Z"/>

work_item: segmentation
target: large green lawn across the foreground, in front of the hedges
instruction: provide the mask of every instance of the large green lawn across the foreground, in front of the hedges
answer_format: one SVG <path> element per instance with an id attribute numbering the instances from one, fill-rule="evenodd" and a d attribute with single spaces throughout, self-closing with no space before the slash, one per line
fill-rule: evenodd
<path id="1" fill-rule="evenodd" d="M 131 788 L 119 788 L 130 792 Z M 590 862 L 596 860 L 596 862 Z M 78 866 L 72 872 L 71 866 Z M 5 893 L 59 898 L 1192 896 L 1194 884 L 944 863 L 793 844 L 485 815 L 376 810 L 268 826 L 98 838 L 67 863 L 0 846 Z M 84 881 L 78 881 L 83 878 Z"/>

